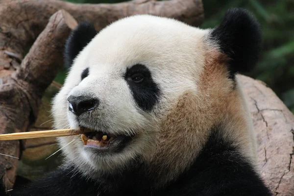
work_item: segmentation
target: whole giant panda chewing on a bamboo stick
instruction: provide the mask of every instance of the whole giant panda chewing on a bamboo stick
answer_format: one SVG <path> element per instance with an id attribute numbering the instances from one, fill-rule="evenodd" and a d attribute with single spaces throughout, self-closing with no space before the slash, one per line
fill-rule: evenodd
<path id="1" fill-rule="evenodd" d="M 80 23 L 54 98 L 64 164 L 16 196 L 270 196 L 236 77 L 254 67 L 261 31 L 244 9 L 200 29 L 150 15 L 96 32 Z"/>

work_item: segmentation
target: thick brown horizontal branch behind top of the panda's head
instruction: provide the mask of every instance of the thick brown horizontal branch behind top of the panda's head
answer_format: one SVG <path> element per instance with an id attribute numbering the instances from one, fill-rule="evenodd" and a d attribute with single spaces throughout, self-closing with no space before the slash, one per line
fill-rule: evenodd
<path id="1" fill-rule="evenodd" d="M 97 30 L 130 15 L 153 14 L 175 18 L 190 25 L 203 22 L 201 0 L 133 0 L 115 4 L 74 4 L 61 0 L 0 0 L 0 71 L 21 56 L 56 11 L 68 11 L 78 22 L 90 21 Z M 14 61 L 13 61 L 14 62 Z M 7 68 L 6 68 L 7 70 Z M 11 70 L 14 70 L 11 67 Z M 6 71 L 5 71 L 6 72 Z M 11 72 L 0 73 L 8 75 Z"/>

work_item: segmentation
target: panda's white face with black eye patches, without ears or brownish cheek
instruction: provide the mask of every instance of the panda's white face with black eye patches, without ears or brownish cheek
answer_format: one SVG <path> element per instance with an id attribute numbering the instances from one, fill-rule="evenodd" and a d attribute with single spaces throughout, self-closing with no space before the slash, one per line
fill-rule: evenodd
<path id="1" fill-rule="evenodd" d="M 88 138 L 113 141 L 99 147 L 76 136 L 60 138 L 61 146 L 74 140 L 64 147 L 68 158 L 104 171 L 136 156 L 151 160 L 162 118 L 183 92 L 197 91 L 206 32 L 151 16 L 126 18 L 99 32 L 75 59 L 53 115 L 56 128 L 91 129 L 99 134 Z"/>

